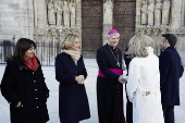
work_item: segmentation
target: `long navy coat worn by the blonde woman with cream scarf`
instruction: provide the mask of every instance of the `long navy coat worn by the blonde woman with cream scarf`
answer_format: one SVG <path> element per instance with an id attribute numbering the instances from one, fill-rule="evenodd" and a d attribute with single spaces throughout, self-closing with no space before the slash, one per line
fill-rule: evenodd
<path id="1" fill-rule="evenodd" d="M 79 58 L 76 65 L 71 56 L 64 52 L 57 56 L 55 79 L 60 82 L 59 115 L 61 123 L 77 123 L 90 118 L 85 86 L 75 81 L 75 76 L 78 75 L 87 77 L 83 57 Z"/>

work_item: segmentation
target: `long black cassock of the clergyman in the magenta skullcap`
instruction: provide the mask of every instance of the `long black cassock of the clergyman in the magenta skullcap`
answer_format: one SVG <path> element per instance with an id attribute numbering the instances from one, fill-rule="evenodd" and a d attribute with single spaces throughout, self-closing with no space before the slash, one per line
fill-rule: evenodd
<path id="1" fill-rule="evenodd" d="M 120 75 L 109 69 L 122 70 L 122 52 L 119 48 L 118 58 L 113 56 L 112 48 L 107 45 L 97 50 L 97 63 L 106 77 L 97 77 L 97 101 L 99 123 L 125 123 L 123 114 L 123 84 L 118 79 Z"/>

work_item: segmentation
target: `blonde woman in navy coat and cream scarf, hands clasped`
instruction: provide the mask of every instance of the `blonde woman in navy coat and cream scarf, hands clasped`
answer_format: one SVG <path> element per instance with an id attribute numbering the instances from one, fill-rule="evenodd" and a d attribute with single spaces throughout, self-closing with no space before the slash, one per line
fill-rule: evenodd
<path id="1" fill-rule="evenodd" d="M 55 79 L 60 82 L 60 121 L 61 123 L 78 123 L 90 118 L 84 86 L 87 72 L 78 51 L 78 37 L 74 34 L 67 35 L 61 48 L 63 52 L 55 58 Z"/>

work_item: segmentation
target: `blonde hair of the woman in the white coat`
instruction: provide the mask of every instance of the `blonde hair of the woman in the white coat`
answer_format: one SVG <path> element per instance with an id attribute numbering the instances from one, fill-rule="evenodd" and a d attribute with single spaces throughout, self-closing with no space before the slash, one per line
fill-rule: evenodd
<path id="1" fill-rule="evenodd" d="M 128 42 L 128 51 L 126 53 L 130 58 L 146 58 L 148 57 L 146 47 L 153 48 L 153 40 L 146 35 L 136 34 L 133 38 L 131 38 Z"/>

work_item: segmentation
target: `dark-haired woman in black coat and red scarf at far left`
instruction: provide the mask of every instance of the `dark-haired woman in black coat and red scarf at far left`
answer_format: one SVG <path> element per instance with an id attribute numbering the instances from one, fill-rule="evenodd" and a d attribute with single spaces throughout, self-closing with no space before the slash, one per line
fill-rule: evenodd
<path id="1" fill-rule="evenodd" d="M 2 96 L 10 103 L 11 123 L 46 123 L 49 121 L 47 98 L 41 65 L 35 57 L 33 40 L 21 38 L 15 51 L 8 59 L 1 81 Z"/>

